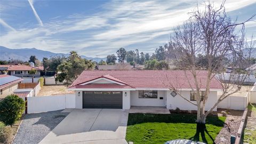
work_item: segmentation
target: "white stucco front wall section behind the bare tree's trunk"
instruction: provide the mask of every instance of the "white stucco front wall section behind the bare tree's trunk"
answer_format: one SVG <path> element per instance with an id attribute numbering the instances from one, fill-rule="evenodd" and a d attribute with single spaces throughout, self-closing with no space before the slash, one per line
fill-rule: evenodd
<path id="1" fill-rule="evenodd" d="M 190 100 L 190 91 L 182 91 L 181 94 L 183 97 L 186 97 Z M 196 101 L 194 101 L 196 102 Z M 209 94 L 209 98 L 205 105 L 205 110 L 209 110 L 214 104 L 217 102 L 217 91 L 211 91 Z M 184 100 L 180 95 L 176 95 L 174 98 L 171 95 L 171 91 L 166 91 L 166 108 L 167 109 L 176 109 L 179 108 L 181 110 L 197 110 L 197 107 Z M 217 107 L 214 111 L 217 110 Z"/>

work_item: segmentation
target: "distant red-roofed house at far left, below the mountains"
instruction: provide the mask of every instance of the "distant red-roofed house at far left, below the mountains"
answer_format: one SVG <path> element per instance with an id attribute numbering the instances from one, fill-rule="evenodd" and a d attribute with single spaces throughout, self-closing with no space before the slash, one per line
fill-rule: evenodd
<path id="1" fill-rule="evenodd" d="M 0 65 L 0 70 L 7 70 L 9 75 L 18 76 L 18 77 L 31 77 L 33 75 L 29 74 L 31 69 L 36 69 L 37 72 L 34 76 L 38 77 L 41 75 L 41 71 L 43 71 L 42 67 L 33 67 L 27 65 Z"/>

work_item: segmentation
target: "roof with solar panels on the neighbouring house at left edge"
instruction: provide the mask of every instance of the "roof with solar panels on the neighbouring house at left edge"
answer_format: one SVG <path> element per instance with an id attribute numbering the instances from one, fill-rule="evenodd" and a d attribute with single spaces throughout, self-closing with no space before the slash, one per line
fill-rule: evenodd
<path id="1" fill-rule="evenodd" d="M 0 89 L 3 89 L 6 86 L 19 83 L 23 81 L 20 77 L 10 76 L 10 75 L 0 75 Z"/>

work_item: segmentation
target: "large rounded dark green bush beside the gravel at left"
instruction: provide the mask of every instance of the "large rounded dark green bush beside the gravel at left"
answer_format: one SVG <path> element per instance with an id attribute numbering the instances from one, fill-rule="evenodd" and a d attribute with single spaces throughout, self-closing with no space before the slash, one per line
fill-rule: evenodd
<path id="1" fill-rule="evenodd" d="M 25 110 L 25 101 L 18 95 L 8 95 L 0 102 L 0 121 L 5 125 L 13 125 Z"/>

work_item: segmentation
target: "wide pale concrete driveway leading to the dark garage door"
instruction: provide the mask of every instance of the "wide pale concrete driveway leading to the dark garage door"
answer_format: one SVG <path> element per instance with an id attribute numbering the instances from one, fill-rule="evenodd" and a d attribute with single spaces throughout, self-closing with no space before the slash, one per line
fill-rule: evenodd
<path id="1" fill-rule="evenodd" d="M 129 110 L 74 109 L 40 143 L 127 143 Z"/>

